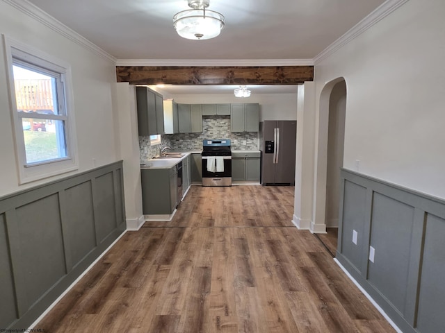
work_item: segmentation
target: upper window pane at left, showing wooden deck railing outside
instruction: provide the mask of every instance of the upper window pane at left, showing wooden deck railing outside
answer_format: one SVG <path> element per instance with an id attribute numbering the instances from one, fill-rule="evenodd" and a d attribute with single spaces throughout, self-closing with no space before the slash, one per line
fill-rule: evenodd
<path id="1" fill-rule="evenodd" d="M 58 114 L 56 78 L 17 65 L 13 71 L 17 111 Z"/>

